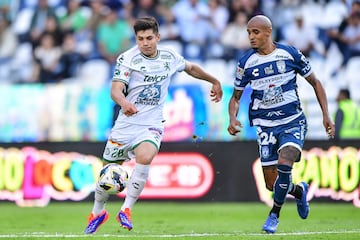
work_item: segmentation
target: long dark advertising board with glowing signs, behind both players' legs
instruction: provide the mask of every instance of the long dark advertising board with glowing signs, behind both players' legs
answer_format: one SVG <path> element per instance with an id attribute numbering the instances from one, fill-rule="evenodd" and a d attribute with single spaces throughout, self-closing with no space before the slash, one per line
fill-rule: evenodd
<path id="1" fill-rule="evenodd" d="M 308 141 L 301 161 L 294 164 L 293 181 L 309 183 L 311 201 L 345 201 L 360 207 L 357 144 Z M 102 167 L 97 156 L 104 143 L 2 146 L 0 200 L 19 206 L 93 200 L 94 183 Z M 131 174 L 134 161 L 123 166 Z M 125 193 L 117 197 L 123 198 Z M 141 198 L 272 203 L 254 141 L 164 143 L 151 165 Z"/>

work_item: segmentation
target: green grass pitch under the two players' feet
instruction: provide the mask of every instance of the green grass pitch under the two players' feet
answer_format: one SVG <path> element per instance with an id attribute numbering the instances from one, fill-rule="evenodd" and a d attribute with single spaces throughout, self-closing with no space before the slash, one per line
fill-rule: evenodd
<path id="1" fill-rule="evenodd" d="M 360 239 L 360 209 L 351 203 L 311 203 L 302 220 L 287 201 L 275 234 L 261 232 L 269 207 L 263 203 L 138 201 L 134 229 L 120 228 L 121 201 L 107 204 L 109 220 L 94 235 L 84 235 L 91 202 L 52 202 L 44 208 L 0 203 L 0 239 Z"/>

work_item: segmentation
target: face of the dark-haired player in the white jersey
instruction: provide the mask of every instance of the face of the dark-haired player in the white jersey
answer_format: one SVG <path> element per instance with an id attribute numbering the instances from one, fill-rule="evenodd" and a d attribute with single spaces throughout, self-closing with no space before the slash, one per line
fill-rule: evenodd
<path id="1" fill-rule="evenodd" d="M 136 34 L 136 43 L 141 51 L 147 57 L 155 57 L 157 54 L 157 43 L 160 41 L 160 35 L 155 34 L 152 29 L 139 31 Z"/>

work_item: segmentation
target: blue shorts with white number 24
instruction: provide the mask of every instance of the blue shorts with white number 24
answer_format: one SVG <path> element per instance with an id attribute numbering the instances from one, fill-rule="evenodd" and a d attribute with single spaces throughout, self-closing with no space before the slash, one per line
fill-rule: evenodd
<path id="1" fill-rule="evenodd" d="M 305 117 L 276 127 L 258 127 L 257 141 L 262 166 L 276 165 L 279 151 L 285 146 L 302 150 L 307 132 Z"/>

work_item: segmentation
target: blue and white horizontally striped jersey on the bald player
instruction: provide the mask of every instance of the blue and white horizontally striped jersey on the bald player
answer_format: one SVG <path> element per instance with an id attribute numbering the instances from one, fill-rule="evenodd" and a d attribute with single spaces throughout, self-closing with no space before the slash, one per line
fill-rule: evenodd
<path id="1" fill-rule="evenodd" d="M 309 76 L 311 66 L 296 48 L 275 44 L 276 49 L 268 55 L 250 50 L 237 65 L 234 88 L 243 90 L 250 84 L 253 90 L 249 106 L 251 126 L 279 126 L 303 114 L 296 75 Z"/>

